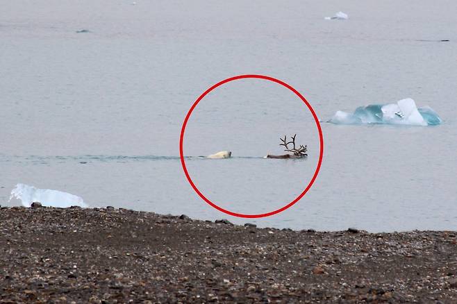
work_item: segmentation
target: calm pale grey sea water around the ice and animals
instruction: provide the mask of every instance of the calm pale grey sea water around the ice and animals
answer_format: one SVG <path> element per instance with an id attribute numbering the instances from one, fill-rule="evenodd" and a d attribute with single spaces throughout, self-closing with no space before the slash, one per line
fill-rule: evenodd
<path id="1" fill-rule="evenodd" d="M 276 228 L 457 229 L 457 3 L 9 1 L 0 10 L 0 204 L 18 183 L 115 207 Z M 342 10 L 350 18 L 324 20 Z M 249 13 L 247 13 L 249 12 Z M 86 30 L 86 31 L 83 31 Z M 79 32 L 79 33 L 76 33 Z M 449 40 L 441 42 L 440 40 Z M 238 74 L 292 85 L 322 121 L 313 187 L 272 217 L 211 207 L 183 174 L 179 136 L 208 87 Z M 337 110 L 409 96 L 437 126 L 329 124 Z M 424 115 L 422 113 L 422 115 Z M 284 153 L 297 133 L 306 160 Z M 317 167 L 313 116 L 260 79 L 226 83 L 188 121 L 199 191 L 243 214 L 277 210 Z M 233 158 L 198 158 L 230 150 Z"/>

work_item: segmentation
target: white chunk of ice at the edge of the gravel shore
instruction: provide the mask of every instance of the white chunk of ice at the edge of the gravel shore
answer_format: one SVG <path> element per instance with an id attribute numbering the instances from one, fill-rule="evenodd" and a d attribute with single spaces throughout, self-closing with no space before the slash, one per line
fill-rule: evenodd
<path id="1" fill-rule="evenodd" d="M 50 189 L 37 189 L 33 186 L 17 184 L 15 189 L 11 190 L 10 201 L 15 198 L 22 201 L 24 207 L 30 207 L 35 201 L 40 202 L 47 207 L 67 208 L 71 206 L 80 206 L 87 208 L 81 197 Z"/>

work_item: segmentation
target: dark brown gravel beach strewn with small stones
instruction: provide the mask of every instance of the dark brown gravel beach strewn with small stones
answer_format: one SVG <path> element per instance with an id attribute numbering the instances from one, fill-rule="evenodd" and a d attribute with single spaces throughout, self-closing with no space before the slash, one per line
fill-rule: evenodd
<path id="1" fill-rule="evenodd" d="M 457 233 L 1 208 L 1 303 L 456 303 Z"/>

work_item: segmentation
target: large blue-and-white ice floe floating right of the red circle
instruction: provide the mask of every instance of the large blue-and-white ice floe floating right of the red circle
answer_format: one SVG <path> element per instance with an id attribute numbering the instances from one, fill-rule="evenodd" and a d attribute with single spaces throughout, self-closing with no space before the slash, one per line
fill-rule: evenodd
<path id="1" fill-rule="evenodd" d="M 413 99 L 401 99 L 386 105 L 365 105 L 354 114 L 338 111 L 329 120 L 333 124 L 405 124 L 429 126 L 441 124 L 438 114 L 429 106 L 417 108 Z"/>

